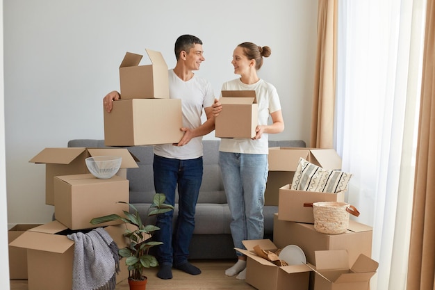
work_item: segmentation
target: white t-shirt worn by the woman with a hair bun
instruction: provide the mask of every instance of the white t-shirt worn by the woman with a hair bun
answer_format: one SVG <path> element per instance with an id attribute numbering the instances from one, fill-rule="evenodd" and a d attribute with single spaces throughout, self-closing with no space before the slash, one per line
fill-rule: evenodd
<path id="1" fill-rule="evenodd" d="M 233 79 L 224 83 L 222 90 L 255 90 L 259 125 L 267 125 L 270 113 L 281 110 L 277 89 L 272 84 L 263 81 L 263 79 L 250 85 L 242 83 L 240 78 Z M 219 150 L 233 153 L 268 154 L 269 134 L 263 134 L 257 140 L 250 138 L 222 138 Z"/>

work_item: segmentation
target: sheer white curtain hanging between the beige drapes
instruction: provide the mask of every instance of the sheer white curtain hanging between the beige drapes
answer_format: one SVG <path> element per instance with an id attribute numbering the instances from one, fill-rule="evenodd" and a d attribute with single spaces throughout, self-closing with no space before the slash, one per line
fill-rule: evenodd
<path id="1" fill-rule="evenodd" d="M 372 290 L 405 289 L 425 0 L 339 1 L 336 150 L 373 227 Z"/>

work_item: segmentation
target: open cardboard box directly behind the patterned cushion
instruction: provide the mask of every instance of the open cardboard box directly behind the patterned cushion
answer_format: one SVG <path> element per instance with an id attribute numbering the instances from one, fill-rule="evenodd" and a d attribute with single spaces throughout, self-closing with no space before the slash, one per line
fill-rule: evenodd
<path id="1" fill-rule="evenodd" d="M 279 204 L 279 188 L 292 184 L 300 158 L 325 169 L 339 170 L 341 158 L 334 149 L 305 147 L 270 147 L 269 176 L 265 191 L 265 204 Z"/>

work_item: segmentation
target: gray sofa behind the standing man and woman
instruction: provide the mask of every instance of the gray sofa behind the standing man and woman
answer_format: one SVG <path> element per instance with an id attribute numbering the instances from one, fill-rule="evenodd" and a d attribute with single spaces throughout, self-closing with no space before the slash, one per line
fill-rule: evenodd
<path id="1" fill-rule="evenodd" d="M 236 257 L 229 223 L 231 221 L 227 198 L 225 197 L 222 177 L 218 165 L 219 140 L 203 140 L 204 177 L 202 181 L 197 211 L 195 232 L 190 243 L 190 259 L 232 259 Z M 302 140 L 269 141 L 270 147 L 306 147 Z M 104 140 L 69 140 L 68 147 L 106 147 Z M 129 168 L 127 179 L 130 184 L 130 202 L 147 218 L 147 209 L 154 195 L 153 147 L 126 147 L 139 160 L 139 168 Z M 265 238 L 272 239 L 273 216 L 277 207 L 265 206 Z M 177 216 L 177 204 L 174 210 Z"/>

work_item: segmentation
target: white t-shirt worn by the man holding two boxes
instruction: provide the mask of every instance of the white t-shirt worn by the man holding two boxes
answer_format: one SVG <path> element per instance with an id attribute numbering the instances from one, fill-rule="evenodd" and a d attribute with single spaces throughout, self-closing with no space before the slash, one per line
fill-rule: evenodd
<path id="1" fill-rule="evenodd" d="M 203 108 L 211 106 L 215 100 L 211 83 L 202 77 L 193 75 L 192 79 L 183 81 L 174 70 L 169 70 L 169 90 L 171 99 L 181 99 L 183 111 L 183 127 L 195 129 L 202 124 Z M 195 159 L 203 155 L 202 136 L 192 138 L 184 146 L 172 144 L 154 146 L 154 154 L 172 159 Z"/>

